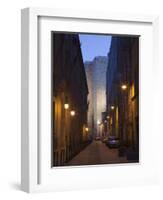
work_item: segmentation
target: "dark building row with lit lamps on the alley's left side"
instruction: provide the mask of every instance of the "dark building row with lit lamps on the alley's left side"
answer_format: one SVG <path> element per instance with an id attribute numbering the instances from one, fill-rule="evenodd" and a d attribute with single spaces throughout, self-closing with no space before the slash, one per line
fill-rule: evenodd
<path id="1" fill-rule="evenodd" d="M 76 155 L 88 139 L 88 86 L 77 34 L 52 34 L 53 166 Z"/>

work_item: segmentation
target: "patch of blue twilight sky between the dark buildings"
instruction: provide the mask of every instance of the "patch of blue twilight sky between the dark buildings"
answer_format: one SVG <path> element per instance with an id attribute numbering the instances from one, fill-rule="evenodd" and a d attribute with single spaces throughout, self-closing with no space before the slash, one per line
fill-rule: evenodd
<path id="1" fill-rule="evenodd" d="M 111 36 L 94 35 L 94 34 L 79 34 L 83 60 L 92 61 L 95 56 L 107 56 Z"/>

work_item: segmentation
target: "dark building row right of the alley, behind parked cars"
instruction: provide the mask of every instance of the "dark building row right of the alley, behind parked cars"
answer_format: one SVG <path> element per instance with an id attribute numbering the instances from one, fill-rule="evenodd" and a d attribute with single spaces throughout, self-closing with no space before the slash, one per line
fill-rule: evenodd
<path id="1" fill-rule="evenodd" d="M 108 136 L 121 146 L 139 149 L 139 38 L 112 37 L 108 54 L 106 112 Z M 131 152 L 131 151 L 130 151 Z"/>

